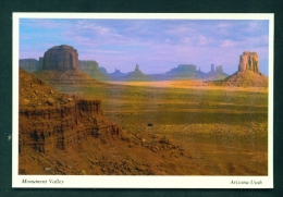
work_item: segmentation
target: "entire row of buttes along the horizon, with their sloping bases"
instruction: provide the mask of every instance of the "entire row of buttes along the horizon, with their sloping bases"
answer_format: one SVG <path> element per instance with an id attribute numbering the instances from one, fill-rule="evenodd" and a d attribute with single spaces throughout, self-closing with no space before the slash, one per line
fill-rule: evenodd
<path id="1" fill-rule="evenodd" d="M 144 74 L 138 64 L 128 73 L 107 73 L 93 60 L 78 60 L 78 52 L 67 45 L 54 46 L 48 49 L 44 57 L 20 60 L 20 67 L 35 73 L 47 84 L 94 84 L 98 81 L 174 81 L 200 79 L 210 84 L 227 86 L 268 86 L 268 77 L 260 73 L 257 52 L 244 51 L 239 56 L 238 71 L 233 75 L 224 73 L 222 65 L 211 64 L 211 71 L 201 72 L 194 64 L 180 64 L 163 74 Z M 249 76 L 250 75 L 250 76 Z M 251 76 L 253 75 L 253 76 Z M 257 78 L 257 79 L 256 79 Z"/>

